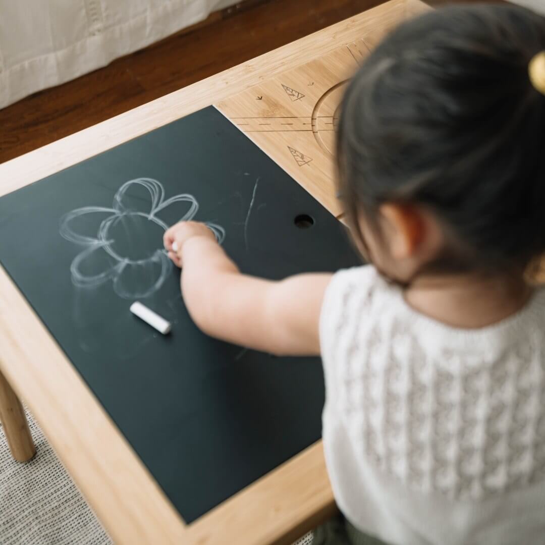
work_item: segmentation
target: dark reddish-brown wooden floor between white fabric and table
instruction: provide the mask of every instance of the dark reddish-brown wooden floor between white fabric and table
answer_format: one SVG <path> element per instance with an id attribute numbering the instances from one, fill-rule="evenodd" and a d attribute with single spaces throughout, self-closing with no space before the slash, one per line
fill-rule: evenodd
<path id="1" fill-rule="evenodd" d="M 0 162 L 360 13 L 381 0 L 250 0 L 0 110 Z"/>

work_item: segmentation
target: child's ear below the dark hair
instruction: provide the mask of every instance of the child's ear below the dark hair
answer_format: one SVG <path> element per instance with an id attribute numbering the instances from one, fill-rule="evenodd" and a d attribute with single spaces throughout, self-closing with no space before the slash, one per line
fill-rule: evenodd
<path id="1" fill-rule="evenodd" d="M 426 219 L 421 211 L 408 204 L 386 203 L 380 206 L 379 213 L 392 257 L 413 257 L 426 232 Z"/>

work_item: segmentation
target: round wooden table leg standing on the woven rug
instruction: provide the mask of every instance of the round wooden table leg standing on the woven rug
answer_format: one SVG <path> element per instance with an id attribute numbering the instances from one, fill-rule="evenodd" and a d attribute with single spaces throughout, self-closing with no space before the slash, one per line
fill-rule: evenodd
<path id="1" fill-rule="evenodd" d="M 25 410 L 16 393 L 0 372 L 0 421 L 9 450 L 17 462 L 27 462 L 36 453 Z"/>

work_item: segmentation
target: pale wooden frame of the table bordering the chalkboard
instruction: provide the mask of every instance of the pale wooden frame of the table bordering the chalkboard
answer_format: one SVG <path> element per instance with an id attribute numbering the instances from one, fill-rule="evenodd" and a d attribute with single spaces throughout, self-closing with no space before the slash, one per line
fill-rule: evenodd
<path id="1" fill-rule="evenodd" d="M 419 0 L 391 0 L 22 155 L 0 165 L 0 196 L 199 108 L 225 101 L 339 46 L 365 37 L 373 41 L 381 29 L 421 9 Z M 274 158 L 274 153 L 270 154 Z M 297 158 L 289 158 L 293 159 Z M 293 171 L 294 164 L 285 165 L 288 172 Z M 295 178 L 297 172 L 293 171 Z M 314 192 L 305 180 L 301 183 Z M 335 211 L 331 180 L 324 181 L 319 193 L 317 198 Z M 32 454 L 33 446 L 26 440 L 24 416 L 21 419 L 20 405 L 11 388 L 26 400 L 116 543 L 289 543 L 335 512 L 319 442 L 186 525 L 2 268 L 0 370 L 7 379 L 2 380 L 0 375 L 0 417 L 4 427 L 15 426 L 10 433 L 12 450 L 24 459 Z M 22 442 L 17 443 L 17 438 Z"/>

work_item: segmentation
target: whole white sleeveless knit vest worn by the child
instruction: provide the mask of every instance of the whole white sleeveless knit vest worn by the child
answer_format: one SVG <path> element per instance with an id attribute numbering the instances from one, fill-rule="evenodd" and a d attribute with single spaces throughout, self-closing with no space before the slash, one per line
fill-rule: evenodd
<path id="1" fill-rule="evenodd" d="M 337 503 L 393 545 L 545 543 L 545 290 L 487 328 L 412 310 L 373 267 L 320 317 Z"/>

